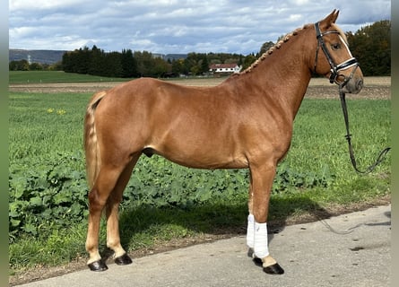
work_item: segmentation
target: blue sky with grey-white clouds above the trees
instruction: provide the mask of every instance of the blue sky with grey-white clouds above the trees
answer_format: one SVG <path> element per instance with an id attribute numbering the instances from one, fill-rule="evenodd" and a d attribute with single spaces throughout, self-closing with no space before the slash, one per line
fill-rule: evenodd
<path id="1" fill-rule="evenodd" d="M 248 55 L 334 9 L 344 31 L 391 20 L 390 0 L 9 0 L 9 48 Z"/>

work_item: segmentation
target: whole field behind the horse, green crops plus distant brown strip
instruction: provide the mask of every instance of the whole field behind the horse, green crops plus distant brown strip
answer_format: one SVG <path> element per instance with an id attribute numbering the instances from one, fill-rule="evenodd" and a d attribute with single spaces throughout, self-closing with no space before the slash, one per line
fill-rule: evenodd
<path id="1" fill-rule="evenodd" d="M 38 266 L 75 262 L 84 267 L 88 188 L 82 121 L 92 92 L 117 84 L 102 80 L 9 85 L 11 283 L 22 283 L 21 274 Z M 366 78 L 365 83 L 359 95 L 347 95 L 360 169 L 391 145 L 390 78 Z M 390 153 L 367 176 L 351 167 L 337 90 L 325 79 L 312 79 L 309 85 L 294 122 L 291 150 L 274 180 L 271 226 L 390 200 Z M 142 157 L 121 204 L 123 244 L 130 253 L 143 256 L 243 233 L 247 188 L 247 170 L 193 170 L 158 156 Z M 104 228 L 100 240 L 105 244 Z"/>

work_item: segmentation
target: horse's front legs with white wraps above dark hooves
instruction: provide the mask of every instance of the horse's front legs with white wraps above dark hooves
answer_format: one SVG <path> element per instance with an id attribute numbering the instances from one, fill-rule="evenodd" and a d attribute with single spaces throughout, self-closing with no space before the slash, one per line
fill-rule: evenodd
<path id="1" fill-rule="evenodd" d="M 253 249 L 254 260 L 262 262 L 267 274 L 284 273 L 282 267 L 270 256 L 267 238 L 267 215 L 275 171 L 276 165 L 272 163 L 250 166 L 247 245 Z"/>

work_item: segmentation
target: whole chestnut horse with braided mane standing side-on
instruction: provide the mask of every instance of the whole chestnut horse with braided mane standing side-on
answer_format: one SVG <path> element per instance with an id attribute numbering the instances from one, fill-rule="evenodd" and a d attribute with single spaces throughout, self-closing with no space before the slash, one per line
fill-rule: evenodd
<path id="1" fill-rule="evenodd" d="M 92 97 L 84 123 L 91 270 L 108 268 L 99 253 L 104 209 L 115 262 L 132 262 L 120 244 L 118 206 L 141 154 L 156 153 L 190 168 L 249 169 L 247 246 L 265 273 L 283 273 L 269 254 L 267 213 L 276 166 L 289 150 L 311 75 L 325 75 L 346 92 L 362 88 L 359 65 L 335 24 L 338 13 L 294 30 L 247 70 L 217 86 L 141 78 Z"/>

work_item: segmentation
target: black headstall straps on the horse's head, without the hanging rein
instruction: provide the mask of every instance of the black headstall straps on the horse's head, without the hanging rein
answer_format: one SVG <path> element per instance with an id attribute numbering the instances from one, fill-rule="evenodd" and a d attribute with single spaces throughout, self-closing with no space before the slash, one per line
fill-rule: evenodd
<path id="1" fill-rule="evenodd" d="M 332 34 L 332 33 L 340 34 L 340 32 L 337 30 L 328 30 L 325 33 L 322 33 L 318 22 L 315 23 L 315 29 L 316 29 L 316 38 L 317 38 L 317 50 L 316 50 L 314 72 L 316 72 L 318 50 L 321 47 L 323 52 L 325 53 L 325 57 L 327 58 L 328 63 L 330 64 L 330 67 L 331 67 L 330 83 L 336 83 L 336 84 L 340 85 L 341 87 L 345 86 L 351 80 L 353 74 L 355 73 L 356 69 L 358 68 L 358 66 L 359 66 L 358 61 L 356 60 L 356 58 L 351 57 L 348 60 L 341 63 L 340 65 L 335 65 L 333 57 L 331 57 L 330 52 L 328 52 L 328 49 L 325 47 L 325 41 L 323 40 L 323 36 L 325 36 L 327 34 Z M 341 36 L 340 36 L 340 38 L 343 41 L 343 44 L 345 45 L 345 47 L 347 48 L 349 55 L 351 56 L 351 51 L 349 50 L 345 41 L 342 39 Z M 352 69 L 349 77 L 347 77 L 343 74 L 339 74 L 340 71 L 348 69 L 351 66 L 353 67 L 353 69 Z M 338 82 L 338 76 L 340 76 L 340 75 L 343 76 L 343 78 L 344 78 L 343 83 Z"/>

